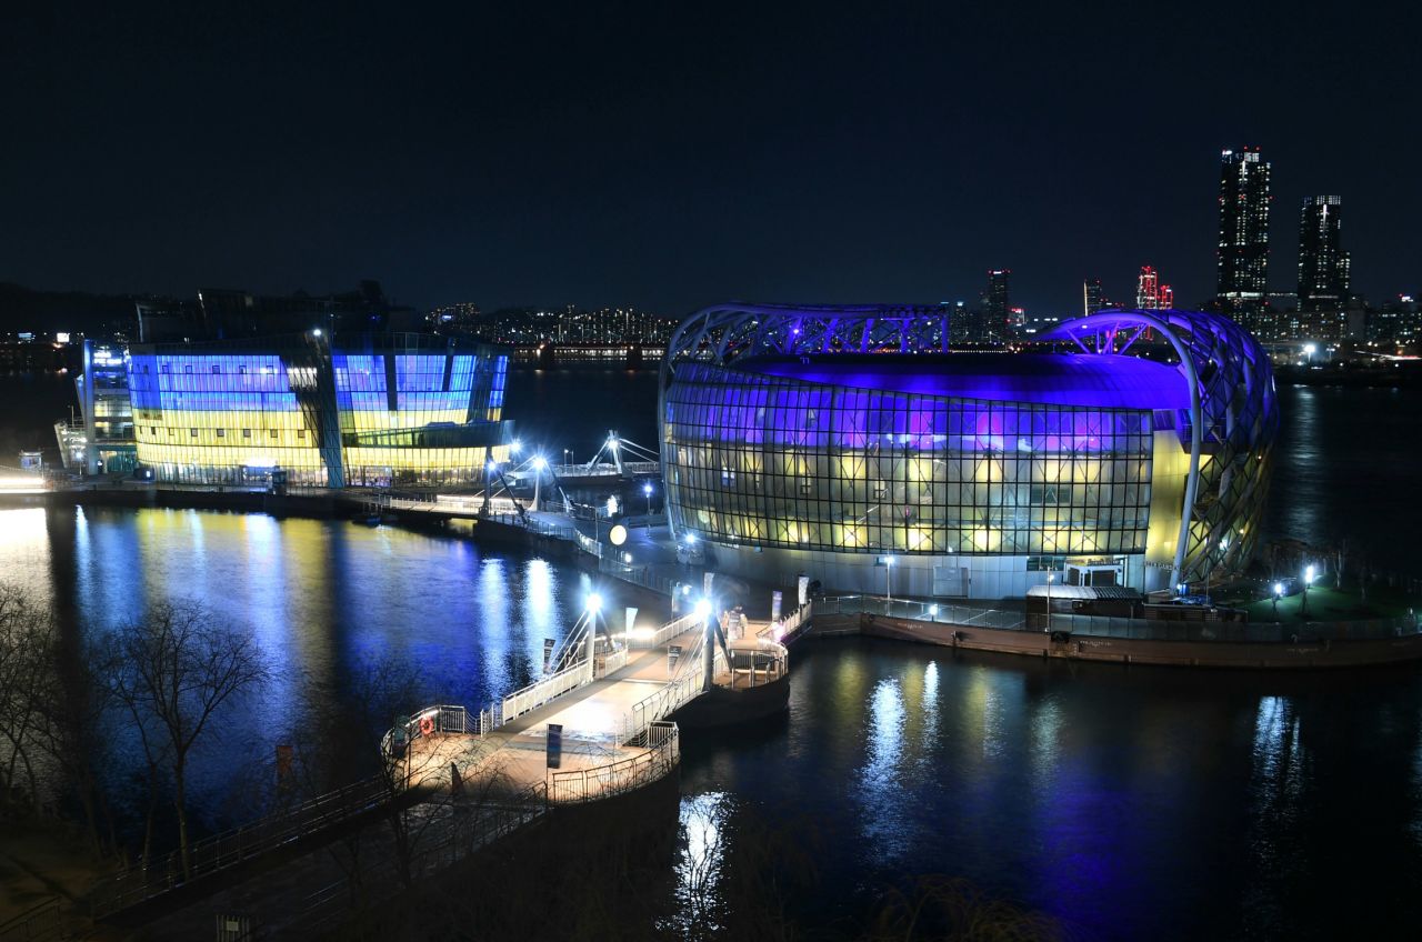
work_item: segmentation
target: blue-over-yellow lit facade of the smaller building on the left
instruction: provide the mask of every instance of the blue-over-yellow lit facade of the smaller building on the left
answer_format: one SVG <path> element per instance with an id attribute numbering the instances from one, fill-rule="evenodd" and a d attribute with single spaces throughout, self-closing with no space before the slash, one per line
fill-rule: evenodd
<path id="1" fill-rule="evenodd" d="M 424 334 L 139 344 L 138 461 L 171 482 L 482 482 L 512 441 L 506 373 L 501 349 Z"/>

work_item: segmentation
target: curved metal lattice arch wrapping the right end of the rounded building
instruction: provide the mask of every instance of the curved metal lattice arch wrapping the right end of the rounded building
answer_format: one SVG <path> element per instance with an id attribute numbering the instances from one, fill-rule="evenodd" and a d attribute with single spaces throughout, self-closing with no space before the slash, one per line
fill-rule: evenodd
<path id="1" fill-rule="evenodd" d="M 1123 356 L 1159 332 L 1180 357 L 1190 388 L 1186 485 L 1175 579 L 1192 582 L 1217 566 L 1241 568 L 1258 544 L 1268 497 L 1278 400 L 1268 356 L 1221 314 L 1183 310 L 1112 310 L 1069 320 L 1041 340 L 1069 340 L 1082 353 Z"/>

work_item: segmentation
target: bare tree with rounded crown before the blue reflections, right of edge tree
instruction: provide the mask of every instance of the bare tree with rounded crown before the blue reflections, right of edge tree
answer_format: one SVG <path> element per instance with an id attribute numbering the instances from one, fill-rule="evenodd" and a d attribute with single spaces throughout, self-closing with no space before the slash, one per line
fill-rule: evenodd
<path id="1" fill-rule="evenodd" d="M 158 770 L 172 773 L 173 811 L 183 877 L 192 875 L 186 784 L 193 747 L 212 719 L 236 696 L 270 677 L 252 637 L 218 622 L 201 603 L 181 600 L 151 606 L 118 632 L 112 690 L 132 716 L 148 758 L 151 808 Z M 152 830 L 149 813 L 148 830 Z M 145 837 L 145 862 L 149 838 Z"/>

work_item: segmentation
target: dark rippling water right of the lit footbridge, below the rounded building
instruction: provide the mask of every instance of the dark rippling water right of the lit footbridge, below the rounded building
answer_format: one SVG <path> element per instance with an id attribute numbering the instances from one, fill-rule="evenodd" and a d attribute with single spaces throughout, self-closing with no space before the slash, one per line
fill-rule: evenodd
<path id="1" fill-rule="evenodd" d="M 940 874 L 1076 938 L 1422 928 L 1416 669 L 1280 677 L 870 640 L 793 662 L 788 721 L 688 736 L 683 793 L 805 822 L 799 841 L 828 848 L 808 926 L 863 925 L 886 891 Z"/>

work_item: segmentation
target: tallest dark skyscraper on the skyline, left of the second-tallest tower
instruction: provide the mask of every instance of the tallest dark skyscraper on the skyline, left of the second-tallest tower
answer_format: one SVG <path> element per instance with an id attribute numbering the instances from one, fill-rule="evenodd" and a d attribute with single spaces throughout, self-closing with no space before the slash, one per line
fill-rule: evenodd
<path id="1" fill-rule="evenodd" d="M 1220 155 L 1217 297 L 1249 329 L 1258 326 L 1268 290 L 1268 169 L 1258 148 Z"/>

